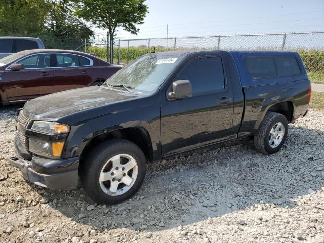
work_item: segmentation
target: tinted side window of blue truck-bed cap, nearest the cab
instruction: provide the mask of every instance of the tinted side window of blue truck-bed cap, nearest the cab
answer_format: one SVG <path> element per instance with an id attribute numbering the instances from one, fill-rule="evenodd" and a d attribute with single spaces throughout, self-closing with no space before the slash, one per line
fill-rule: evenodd
<path id="1" fill-rule="evenodd" d="M 273 57 L 247 57 L 245 66 L 253 79 L 278 76 Z"/>

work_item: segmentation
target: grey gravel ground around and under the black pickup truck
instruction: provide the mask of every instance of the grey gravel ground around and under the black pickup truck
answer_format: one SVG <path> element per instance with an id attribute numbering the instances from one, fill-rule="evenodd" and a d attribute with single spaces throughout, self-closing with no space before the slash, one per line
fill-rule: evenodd
<path id="1" fill-rule="evenodd" d="M 1 242 L 324 242 L 322 111 L 271 156 L 249 140 L 150 164 L 137 195 L 108 206 L 31 185 L 7 163 L 17 108 L 0 110 Z"/>

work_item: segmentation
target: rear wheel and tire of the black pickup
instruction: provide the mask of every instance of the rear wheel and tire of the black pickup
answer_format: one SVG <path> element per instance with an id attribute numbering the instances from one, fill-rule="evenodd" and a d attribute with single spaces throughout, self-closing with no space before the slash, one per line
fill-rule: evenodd
<path id="1" fill-rule="evenodd" d="M 275 132 L 276 130 L 277 132 Z M 276 153 L 284 145 L 287 134 L 287 118 L 279 113 L 268 112 L 260 124 L 257 134 L 254 136 L 254 145 L 261 153 Z"/>

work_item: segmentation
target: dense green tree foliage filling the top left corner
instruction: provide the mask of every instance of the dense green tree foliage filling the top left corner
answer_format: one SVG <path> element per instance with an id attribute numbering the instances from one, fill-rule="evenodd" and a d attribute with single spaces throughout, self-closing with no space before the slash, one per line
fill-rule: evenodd
<path id="1" fill-rule="evenodd" d="M 1 0 L 0 33 L 34 35 L 44 30 L 47 0 Z"/>

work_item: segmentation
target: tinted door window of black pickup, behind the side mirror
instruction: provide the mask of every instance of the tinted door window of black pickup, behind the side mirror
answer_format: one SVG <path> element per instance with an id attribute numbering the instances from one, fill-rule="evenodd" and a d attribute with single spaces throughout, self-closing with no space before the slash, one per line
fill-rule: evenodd
<path id="1" fill-rule="evenodd" d="M 193 94 L 224 89 L 222 59 L 221 57 L 196 59 L 178 75 L 177 80 L 189 80 Z"/>

